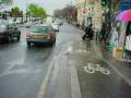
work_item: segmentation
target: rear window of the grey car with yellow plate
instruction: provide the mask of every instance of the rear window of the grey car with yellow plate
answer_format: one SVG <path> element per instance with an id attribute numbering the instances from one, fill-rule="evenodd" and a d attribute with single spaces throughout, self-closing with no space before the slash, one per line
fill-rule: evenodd
<path id="1" fill-rule="evenodd" d="M 33 33 L 48 33 L 47 26 L 31 26 L 28 29 Z"/>

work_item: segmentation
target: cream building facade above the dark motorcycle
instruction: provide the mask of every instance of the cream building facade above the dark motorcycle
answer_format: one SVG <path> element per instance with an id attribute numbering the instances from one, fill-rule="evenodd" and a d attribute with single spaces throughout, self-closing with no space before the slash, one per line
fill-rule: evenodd
<path id="1" fill-rule="evenodd" d="M 100 28 L 102 26 L 102 4 L 100 0 L 75 0 L 78 8 L 78 21 L 85 26 L 93 24 L 94 27 Z"/>

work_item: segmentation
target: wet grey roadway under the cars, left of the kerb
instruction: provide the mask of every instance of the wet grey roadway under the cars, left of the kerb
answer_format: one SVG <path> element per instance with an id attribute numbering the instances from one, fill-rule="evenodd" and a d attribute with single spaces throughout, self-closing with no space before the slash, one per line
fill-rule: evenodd
<path id="1" fill-rule="evenodd" d="M 57 33 L 53 47 L 44 45 L 28 49 L 25 28 L 20 29 L 20 42 L 0 45 L 0 98 L 36 98 L 52 58 L 80 38 L 73 26 L 64 24 Z"/>

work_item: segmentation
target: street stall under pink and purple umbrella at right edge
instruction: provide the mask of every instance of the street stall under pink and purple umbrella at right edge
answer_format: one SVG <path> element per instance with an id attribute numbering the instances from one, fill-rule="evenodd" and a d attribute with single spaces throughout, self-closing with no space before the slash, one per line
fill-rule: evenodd
<path id="1" fill-rule="evenodd" d="M 131 60 L 131 10 L 121 12 L 116 20 L 110 44 L 118 60 Z"/>

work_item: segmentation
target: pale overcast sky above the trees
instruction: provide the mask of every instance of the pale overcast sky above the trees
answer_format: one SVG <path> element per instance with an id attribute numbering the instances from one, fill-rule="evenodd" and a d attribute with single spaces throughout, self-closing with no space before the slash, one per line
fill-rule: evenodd
<path id="1" fill-rule="evenodd" d="M 13 0 L 12 7 L 20 7 L 25 12 L 26 3 L 35 3 L 44 7 L 48 14 L 52 14 L 53 10 L 62 9 L 66 4 L 71 4 L 71 2 L 74 3 L 74 0 Z"/>

